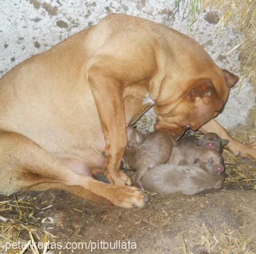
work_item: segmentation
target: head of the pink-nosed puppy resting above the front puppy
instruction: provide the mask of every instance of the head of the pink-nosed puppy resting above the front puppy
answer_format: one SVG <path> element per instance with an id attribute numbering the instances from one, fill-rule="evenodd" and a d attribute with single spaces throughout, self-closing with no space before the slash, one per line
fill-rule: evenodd
<path id="1" fill-rule="evenodd" d="M 211 175 L 220 175 L 224 171 L 221 155 L 211 149 L 201 149 L 200 155 L 194 160 L 194 164 Z"/>

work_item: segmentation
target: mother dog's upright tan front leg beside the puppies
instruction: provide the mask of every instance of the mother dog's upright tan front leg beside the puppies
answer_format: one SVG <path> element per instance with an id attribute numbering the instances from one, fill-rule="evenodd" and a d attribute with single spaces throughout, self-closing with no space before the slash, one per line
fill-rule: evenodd
<path id="1" fill-rule="evenodd" d="M 105 138 L 106 176 L 120 185 L 131 185 L 131 179 L 119 171 L 120 161 L 127 144 L 123 85 L 99 64 L 88 70 L 88 81 L 98 110 Z"/>

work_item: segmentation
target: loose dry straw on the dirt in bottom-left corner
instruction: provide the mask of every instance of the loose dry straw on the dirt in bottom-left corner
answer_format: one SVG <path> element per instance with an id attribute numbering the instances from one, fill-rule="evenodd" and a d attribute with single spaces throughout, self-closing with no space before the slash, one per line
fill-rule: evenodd
<path id="1" fill-rule="evenodd" d="M 34 206 L 36 198 L 25 195 L 17 199 L 13 195 L 0 202 L 0 253 L 47 253 L 47 242 L 53 242 L 55 236 L 44 227 L 44 212 Z M 19 249 L 6 251 L 6 246 L 18 242 Z M 35 242 L 43 243 L 44 247 Z"/>

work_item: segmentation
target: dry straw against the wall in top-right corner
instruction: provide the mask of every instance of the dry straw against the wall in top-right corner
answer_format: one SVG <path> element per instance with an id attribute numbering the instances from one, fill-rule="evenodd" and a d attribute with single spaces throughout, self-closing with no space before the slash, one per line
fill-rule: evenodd
<path id="1" fill-rule="evenodd" d="M 221 29 L 235 25 L 239 32 L 244 36 L 244 41 L 234 47 L 233 50 L 239 51 L 241 61 L 241 73 L 239 91 L 242 89 L 242 82 L 247 79 L 254 84 L 256 89 L 256 2 L 253 0 L 208 0 L 205 1 L 204 7 L 214 7 L 220 11 L 220 21 L 216 25 Z"/>

